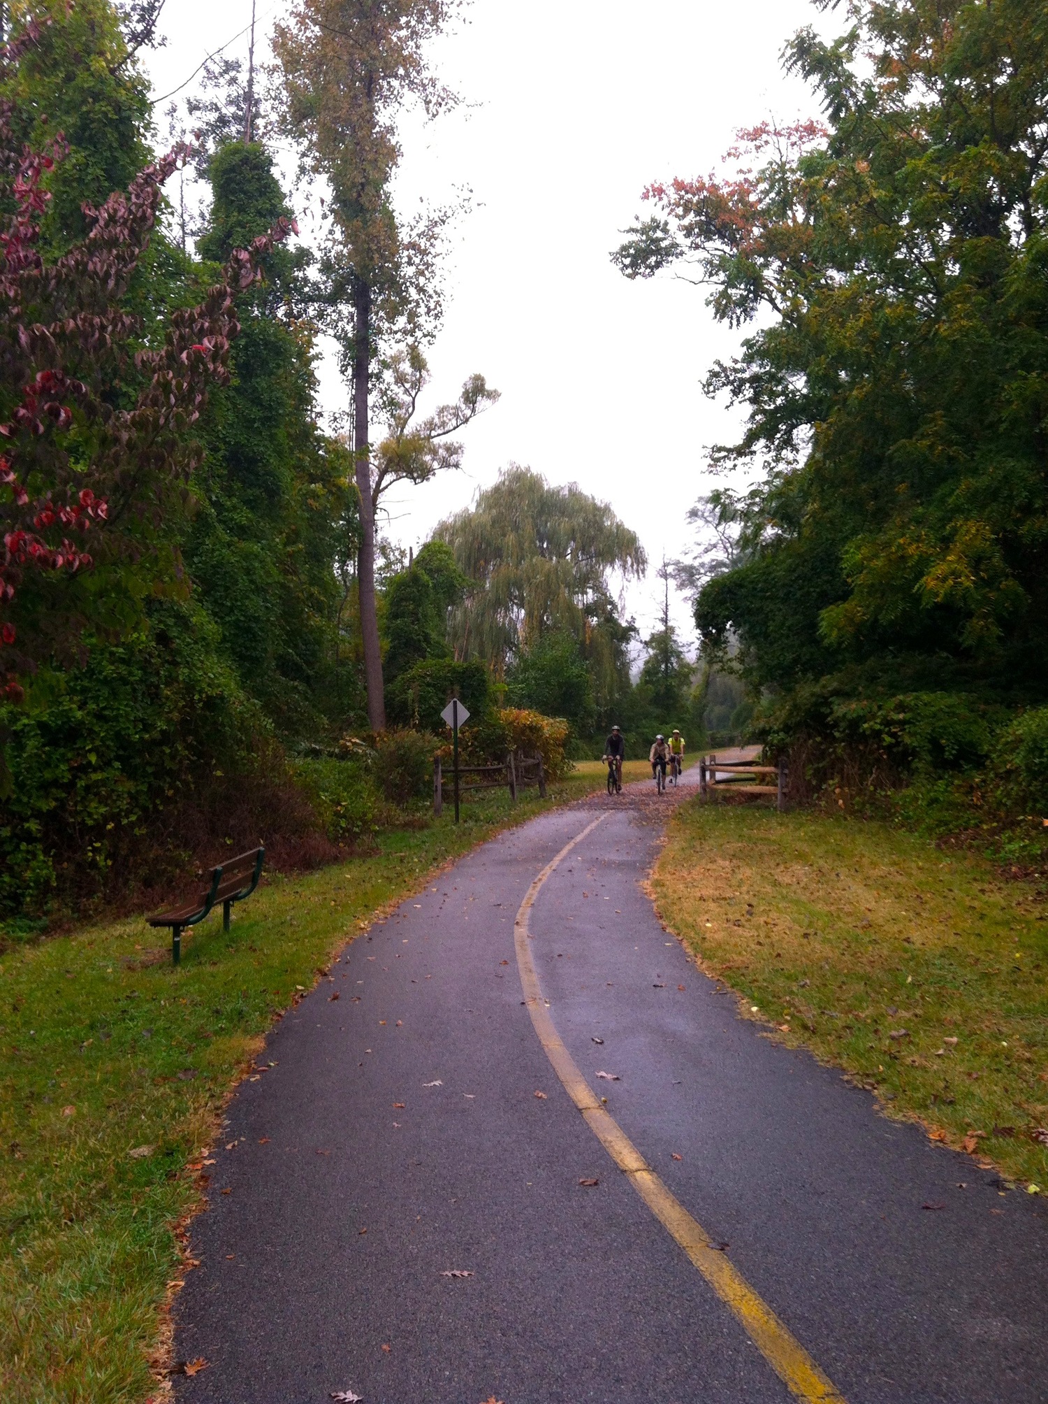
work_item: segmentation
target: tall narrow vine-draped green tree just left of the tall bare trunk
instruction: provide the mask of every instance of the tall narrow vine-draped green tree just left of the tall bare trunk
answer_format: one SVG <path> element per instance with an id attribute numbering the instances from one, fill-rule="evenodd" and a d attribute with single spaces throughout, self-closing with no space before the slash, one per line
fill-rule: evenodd
<path id="1" fill-rule="evenodd" d="M 220 263 L 288 213 L 260 145 L 222 147 L 209 177 L 205 258 Z M 241 682 L 296 736 L 334 720 L 340 702 L 331 563 L 352 552 L 356 512 L 349 455 L 316 425 L 311 337 L 296 316 L 302 257 L 276 249 L 265 272 L 241 309 L 231 383 L 205 418 L 185 559 Z"/>

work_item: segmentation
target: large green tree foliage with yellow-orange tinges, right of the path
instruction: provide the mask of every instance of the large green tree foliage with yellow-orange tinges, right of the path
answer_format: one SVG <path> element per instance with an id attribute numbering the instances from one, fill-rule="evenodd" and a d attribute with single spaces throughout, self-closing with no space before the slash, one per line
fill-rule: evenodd
<path id="1" fill-rule="evenodd" d="M 901 710 L 964 768 L 989 739 L 954 747 L 958 712 L 974 736 L 1048 696 L 1048 13 L 847 11 L 787 51 L 825 125 L 763 124 L 724 178 L 652 187 L 616 257 L 690 260 L 714 316 L 760 322 L 708 380 L 749 407 L 720 461 L 767 477 L 721 494 L 738 542 L 699 594 L 707 647 L 738 643 L 780 740 Z"/>

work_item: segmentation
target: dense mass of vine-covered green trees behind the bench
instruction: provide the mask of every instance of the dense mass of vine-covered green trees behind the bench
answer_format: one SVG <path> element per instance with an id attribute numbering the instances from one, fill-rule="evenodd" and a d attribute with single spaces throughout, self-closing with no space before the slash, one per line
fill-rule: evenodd
<path id="1" fill-rule="evenodd" d="M 171 327 L 188 316 L 178 309 L 206 306 L 234 250 L 289 213 L 272 159 L 258 145 L 216 152 L 196 258 L 136 213 L 140 195 L 130 213 L 114 206 L 112 254 L 101 257 L 118 275 L 95 289 L 90 265 L 81 277 L 59 260 L 95 237 L 84 202 L 101 206 L 143 180 L 147 87 L 108 0 L 46 8 L 52 22 L 15 63 L 0 65 L 0 97 L 14 104 L 15 143 L 46 149 L 63 135 L 42 176 L 39 241 L 45 267 L 62 268 L 58 314 L 109 322 L 98 323 L 98 347 L 73 345 L 65 361 L 95 396 L 97 420 L 74 403 L 53 444 L 49 434 L 36 448 L 20 444 L 15 466 L 31 503 L 59 490 L 76 501 L 87 482 L 108 498 L 108 515 L 93 518 L 91 557 L 76 573 L 22 569 L 4 615 L 4 644 L 17 640 L 4 661 L 20 674 L 0 701 L 0 910 L 31 913 L 163 882 L 230 835 L 265 837 L 276 852 L 311 826 L 306 847 L 330 851 L 325 812 L 296 793 L 276 743 L 341 734 L 362 699 L 352 650 L 340 649 L 337 567 L 352 559 L 358 534 L 352 465 L 316 423 L 303 254 L 271 247 L 261 282 L 241 279 L 229 372 L 224 350 L 175 357 L 178 375 L 189 357 L 215 357 L 210 396 L 198 396 L 192 414 L 178 407 L 149 438 L 142 414 L 125 431 L 109 409 L 136 411 L 150 368 L 174 355 Z M 14 344 L 18 314 L 6 312 Z M 56 312 L 25 314 L 48 322 Z M 174 334 L 187 340 L 187 330 Z M 135 362 L 137 348 L 153 359 Z M 206 371 L 203 359 L 192 364 Z M 206 375 L 201 383 L 206 390 Z M 4 416 L 15 406 L 4 403 Z M 45 452 L 58 477 L 43 475 Z M 18 479 L 0 477 L 4 512 L 17 512 L 20 493 Z M 347 820 L 337 837 L 352 831 Z"/>

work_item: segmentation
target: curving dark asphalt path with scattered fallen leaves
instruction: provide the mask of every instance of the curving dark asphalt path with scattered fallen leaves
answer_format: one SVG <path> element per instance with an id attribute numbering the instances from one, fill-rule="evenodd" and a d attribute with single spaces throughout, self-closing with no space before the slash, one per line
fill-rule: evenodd
<path id="1" fill-rule="evenodd" d="M 643 889 L 673 802 L 492 840 L 285 1018 L 180 1400 L 1044 1400 L 1044 1205 L 739 1018 Z"/>

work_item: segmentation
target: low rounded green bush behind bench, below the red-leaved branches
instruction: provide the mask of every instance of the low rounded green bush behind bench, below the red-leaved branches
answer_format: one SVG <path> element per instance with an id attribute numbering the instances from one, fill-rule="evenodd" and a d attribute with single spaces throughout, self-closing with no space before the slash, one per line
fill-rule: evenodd
<path id="1" fill-rule="evenodd" d="M 0 706 L 0 911 L 38 914 L 135 875 L 163 809 L 269 743 L 258 706 L 192 604 L 156 602 L 123 642 L 87 640 L 83 667 L 41 670 Z"/>

